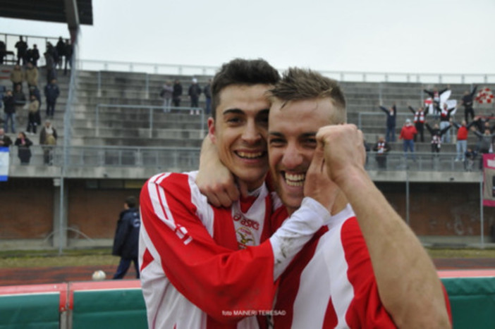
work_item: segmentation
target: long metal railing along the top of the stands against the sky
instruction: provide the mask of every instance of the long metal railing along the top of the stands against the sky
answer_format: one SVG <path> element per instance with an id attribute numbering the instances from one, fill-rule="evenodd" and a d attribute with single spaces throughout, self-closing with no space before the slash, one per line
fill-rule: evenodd
<path id="1" fill-rule="evenodd" d="M 171 75 L 214 75 L 219 66 L 185 64 L 140 63 L 130 61 L 105 61 L 80 59 L 82 70 L 116 70 Z M 285 68 L 279 71 L 283 72 Z M 343 70 L 319 70 L 339 81 L 355 82 L 423 82 L 423 83 L 494 83 L 495 73 L 408 73 L 408 72 L 357 72 Z"/>

